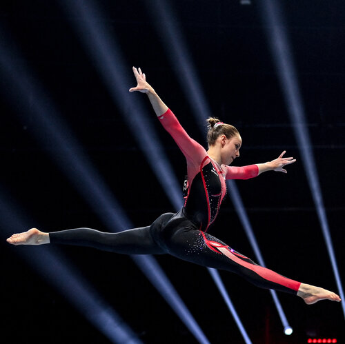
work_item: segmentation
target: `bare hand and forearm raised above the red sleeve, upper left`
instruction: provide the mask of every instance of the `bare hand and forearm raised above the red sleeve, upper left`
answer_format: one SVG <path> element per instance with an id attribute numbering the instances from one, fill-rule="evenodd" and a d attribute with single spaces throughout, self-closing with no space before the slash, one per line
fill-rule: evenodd
<path id="1" fill-rule="evenodd" d="M 152 88 L 152 86 L 146 81 L 145 73 L 141 72 L 140 68 L 133 67 L 133 73 L 135 75 L 135 79 L 137 79 L 137 87 L 130 88 L 130 92 L 139 91 L 142 93 L 146 93 L 148 95 L 148 99 L 150 99 L 150 103 L 152 105 L 153 110 L 157 114 L 157 117 L 161 116 L 168 110 L 168 106 L 164 104 L 164 102 L 158 97 L 158 94 Z"/>

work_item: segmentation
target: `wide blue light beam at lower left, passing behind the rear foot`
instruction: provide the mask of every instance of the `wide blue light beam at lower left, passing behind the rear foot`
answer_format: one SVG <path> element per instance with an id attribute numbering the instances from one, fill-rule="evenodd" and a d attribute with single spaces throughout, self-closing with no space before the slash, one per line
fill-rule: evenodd
<path id="1" fill-rule="evenodd" d="M 12 234 L 14 228 L 28 227 L 30 221 L 24 219 L 18 207 L 8 203 L 10 197 L 0 193 L 1 239 Z M 40 246 L 32 250 L 29 247 L 16 247 L 16 253 L 23 261 L 52 284 L 79 312 L 85 316 L 111 343 L 142 343 L 125 321 L 104 301 L 87 281 L 72 267 L 72 263 L 61 256 L 54 247 Z"/>

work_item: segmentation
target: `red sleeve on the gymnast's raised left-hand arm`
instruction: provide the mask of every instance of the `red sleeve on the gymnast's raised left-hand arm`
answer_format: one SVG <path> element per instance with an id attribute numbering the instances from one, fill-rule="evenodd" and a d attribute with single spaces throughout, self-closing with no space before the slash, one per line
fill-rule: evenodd
<path id="1" fill-rule="evenodd" d="M 207 155 L 205 148 L 188 136 L 186 130 L 182 128 L 175 114 L 170 109 L 159 116 L 158 119 L 179 146 L 179 149 L 187 159 L 187 163 L 199 166 Z"/>

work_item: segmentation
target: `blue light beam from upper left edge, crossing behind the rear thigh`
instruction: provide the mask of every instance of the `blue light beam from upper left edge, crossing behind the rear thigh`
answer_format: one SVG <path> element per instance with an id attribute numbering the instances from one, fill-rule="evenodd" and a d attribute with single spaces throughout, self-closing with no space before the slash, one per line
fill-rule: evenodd
<path id="1" fill-rule="evenodd" d="M 5 36 L 2 34 L 2 37 Z M 0 48 L 3 48 L 1 42 Z M 12 54 L 6 54 L 6 52 L 6 48 L 1 49 L 0 68 L 3 77 L 12 87 L 3 91 L 6 92 L 13 105 L 21 106 L 23 111 L 19 116 L 25 117 L 26 107 L 29 103 L 28 90 L 30 90 L 31 114 L 35 122 L 33 128 L 35 139 L 42 145 L 47 145 L 46 137 L 49 137 L 49 144 L 59 148 L 59 152 L 63 154 L 51 154 L 52 159 L 55 160 L 72 185 L 84 196 L 92 208 L 108 210 L 106 216 L 102 216 L 101 220 L 110 231 L 116 232 L 133 227 L 115 196 L 112 195 L 99 173 L 88 161 L 88 157 L 84 154 L 79 143 L 73 138 L 68 126 L 63 123 L 61 116 L 55 110 L 55 105 L 47 100 L 50 98 L 43 91 L 43 87 L 18 63 L 19 59 L 13 59 Z M 162 296 L 170 307 L 177 312 L 177 316 L 186 324 L 186 327 L 199 343 L 209 343 L 186 305 L 178 297 L 171 283 L 168 282 L 168 278 L 163 274 L 157 261 L 152 256 L 132 256 L 132 259 L 139 264 L 141 271 L 146 274 L 159 292 L 164 290 Z M 155 274 L 152 274 L 152 270 L 155 270 Z"/>

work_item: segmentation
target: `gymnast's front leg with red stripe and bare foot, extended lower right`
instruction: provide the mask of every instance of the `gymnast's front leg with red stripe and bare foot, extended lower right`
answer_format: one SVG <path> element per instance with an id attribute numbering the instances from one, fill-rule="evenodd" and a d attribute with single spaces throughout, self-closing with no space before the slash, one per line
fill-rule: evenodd
<path id="1" fill-rule="evenodd" d="M 298 295 L 307 304 L 323 299 L 340 301 L 339 296 L 333 292 L 288 279 L 257 265 L 210 234 L 180 228 L 170 235 L 169 242 L 169 253 L 173 256 L 199 265 L 235 272 L 258 287 Z"/>

